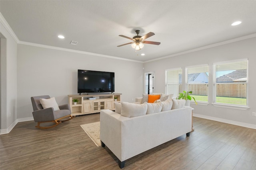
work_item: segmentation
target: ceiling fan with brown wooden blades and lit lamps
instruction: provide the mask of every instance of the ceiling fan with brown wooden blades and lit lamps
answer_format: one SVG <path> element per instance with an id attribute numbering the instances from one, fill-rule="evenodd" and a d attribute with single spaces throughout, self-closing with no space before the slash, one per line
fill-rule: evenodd
<path id="1" fill-rule="evenodd" d="M 149 32 L 146 35 L 140 36 L 139 35 L 140 30 L 136 30 L 135 32 L 136 32 L 137 35 L 132 37 L 132 38 L 127 37 L 125 35 L 119 35 L 120 37 L 128 38 L 128 39 L 130 39 L 130 40 L 132 40 L 134 42 L 118 45 L 117 47 L 121 47 L 121 46 L 127 45 L 127 44 L 132 44 L 132 48 L 134 48 L 136 50 L 140 50 L 144 46 L 143 43 L 145 43 L 145 44 L 153 44 L 153 45 L 159 45 L 160 44 L 160 42 L 155 42 L 155 41 L 144 41 L 148 37 L 151 37 L 151 36 L 155 35 L 155 33 Z"/>

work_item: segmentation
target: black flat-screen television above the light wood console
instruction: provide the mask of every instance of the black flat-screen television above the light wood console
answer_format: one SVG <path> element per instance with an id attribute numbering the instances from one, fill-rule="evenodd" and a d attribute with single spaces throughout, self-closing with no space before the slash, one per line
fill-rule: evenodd
<path id="1" fill-rule="evenodd" d="M 78 70 L 77 92 L 79 94 L 114 91 L 114 72 Z"/>

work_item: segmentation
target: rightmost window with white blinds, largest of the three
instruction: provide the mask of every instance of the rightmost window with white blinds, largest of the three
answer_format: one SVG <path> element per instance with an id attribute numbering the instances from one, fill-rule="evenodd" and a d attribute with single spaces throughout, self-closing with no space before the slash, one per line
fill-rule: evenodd
<path id="1" fill-rule="evenodd" d="M 248 105 L 248 60 L 214 64 L 214 103 Z"/>

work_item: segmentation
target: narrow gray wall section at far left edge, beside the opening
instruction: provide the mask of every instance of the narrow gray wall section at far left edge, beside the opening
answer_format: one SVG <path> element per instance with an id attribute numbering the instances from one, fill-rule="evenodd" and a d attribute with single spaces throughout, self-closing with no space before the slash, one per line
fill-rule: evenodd
<path id="1" fill-rule="evenodd" d="M 17 43 L 0 22 L 1 125 L 8 129 L 17 119 Z"/>

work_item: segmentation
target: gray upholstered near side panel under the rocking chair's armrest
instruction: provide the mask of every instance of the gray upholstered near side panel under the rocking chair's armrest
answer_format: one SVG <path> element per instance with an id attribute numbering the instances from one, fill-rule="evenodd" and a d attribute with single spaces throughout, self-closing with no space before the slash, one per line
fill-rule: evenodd
<path id="1" fill-rule="evenodd" d="M 40 122 L 40 121 L 52 121 L 54 120 L 54 109 L 53 107 L 47 108 L 47 109 L 41 109 L 36 110 L 32 112 L 34 121 Z"/>

